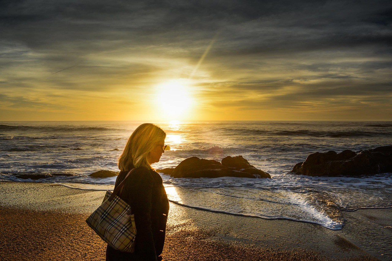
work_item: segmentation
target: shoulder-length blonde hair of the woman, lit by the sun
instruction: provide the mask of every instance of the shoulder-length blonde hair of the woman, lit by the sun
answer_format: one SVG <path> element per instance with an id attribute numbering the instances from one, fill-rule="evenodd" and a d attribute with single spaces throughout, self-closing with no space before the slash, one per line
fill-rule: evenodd
<path id="1" fill-rule="evenodd" d="M 160 127 L 152 123 L 143 123 L 129 137 L 118 159 L 118 168 L 122 171 L 131 170 L 132 167 L 151 168 L 148 161 L 149 153 L 165 138 L 166 133 Z"/>

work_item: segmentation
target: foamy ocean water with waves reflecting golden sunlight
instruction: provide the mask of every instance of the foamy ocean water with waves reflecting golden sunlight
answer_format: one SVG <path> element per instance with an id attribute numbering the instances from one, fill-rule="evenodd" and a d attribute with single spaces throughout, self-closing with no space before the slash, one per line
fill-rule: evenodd
<path id="1" fill-rule="evenodd" d="M 58 183 L 73 189 L 113 189 L 117 160 L 136 121 L 2 121 L 0 180 Z M 342 211 L 392 207 L 392 173 L 360 177 L 289 174 L 314 152 L 365 150 L 392 145 L 392 121 L 171 121 L 154 122 L 167 133 L 155 169 L 197 156 L 221 161 L 242 155 L 271 179 L 171 178 L 161 173 L 171 202 L 207 211 L 264 219 L 290 219 L 338 230 Z M 18 174 L 50 173 L 45 179 Z"/>

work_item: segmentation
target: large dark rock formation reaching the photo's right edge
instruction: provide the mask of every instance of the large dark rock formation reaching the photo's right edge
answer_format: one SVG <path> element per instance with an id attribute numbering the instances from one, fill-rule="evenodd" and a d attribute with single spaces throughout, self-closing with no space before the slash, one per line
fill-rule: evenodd
<path id="1" fill-rule="evenodd" d="M 360 176 L 392 172 L 392 146 L 361 150 L 316 152 L 294 166 L 290 173 L 308 176 Z"/>

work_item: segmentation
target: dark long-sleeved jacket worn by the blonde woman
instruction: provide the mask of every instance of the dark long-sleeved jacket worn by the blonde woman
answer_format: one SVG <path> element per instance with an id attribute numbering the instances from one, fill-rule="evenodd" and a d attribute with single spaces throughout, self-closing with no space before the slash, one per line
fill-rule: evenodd
<path id="1" fill-rule="evenodd" d="M 128 171 L 121 171 L 116 186 Z M 136 247 L 134 253 L 126 253 L 107 246 L 106 260 L 161 260 L 165 243 L 169 201 L 161 176 L 152 169 L 139 167 L 125 181 L 120 195 L 135 215 Z"/>

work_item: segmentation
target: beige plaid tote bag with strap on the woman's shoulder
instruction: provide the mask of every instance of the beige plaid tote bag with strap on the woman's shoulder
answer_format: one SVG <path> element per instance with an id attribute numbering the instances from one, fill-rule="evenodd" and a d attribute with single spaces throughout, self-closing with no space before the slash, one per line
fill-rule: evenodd
<path id="1" fill-rule="evenodd" d="M 128 172 L 113 193 L 109 190 L 106 191 L 102 204 L 86 219 L 87 225 L 93 228 L 98 236 L 111 247 L 131 253 L 135 250 L 135 218 L 131 212 L 131 206 L 117 194 L 132 170 Z"/>

